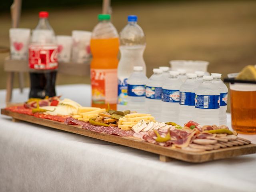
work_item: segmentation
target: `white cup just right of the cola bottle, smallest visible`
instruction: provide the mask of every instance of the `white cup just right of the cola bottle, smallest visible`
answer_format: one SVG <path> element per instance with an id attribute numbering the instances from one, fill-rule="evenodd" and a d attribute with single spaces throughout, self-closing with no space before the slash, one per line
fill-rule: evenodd
<path id="1" fill-rule="evenodd" d="M 57 44 L 58 44 L 58 61 L 70 62 L 72 37 L 66 36 L 66 35 L 58 35 Z"/>

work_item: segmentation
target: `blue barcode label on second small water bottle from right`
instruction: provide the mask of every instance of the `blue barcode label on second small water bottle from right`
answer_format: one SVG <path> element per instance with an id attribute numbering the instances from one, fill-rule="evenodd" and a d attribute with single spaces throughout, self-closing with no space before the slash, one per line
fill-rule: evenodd
<path id="1" fill-rule="evenodd" d="M 200 109 L 218 109 L 220 108 L 219 95 L 196 95 L 195 107 Z"/>

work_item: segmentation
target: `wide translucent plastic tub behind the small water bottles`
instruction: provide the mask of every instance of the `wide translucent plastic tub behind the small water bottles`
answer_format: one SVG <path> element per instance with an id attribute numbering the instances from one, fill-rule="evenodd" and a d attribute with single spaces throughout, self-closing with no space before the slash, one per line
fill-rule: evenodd
<path id="1" fill-rule="evenodd" d="M 194 73 L 196 71 L 207 72 L 208 61 L 193 61 L 193 60 L 172 60 L 170 65 L 172 70 L 185 69 L 187 73 Z"/>

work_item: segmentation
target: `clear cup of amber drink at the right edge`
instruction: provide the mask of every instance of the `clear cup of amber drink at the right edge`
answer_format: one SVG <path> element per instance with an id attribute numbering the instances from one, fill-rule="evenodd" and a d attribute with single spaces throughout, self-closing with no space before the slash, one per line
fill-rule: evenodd
<path id="1" fill-rule="evenodd" d="M 238 75 L 228 74 L 228 78 Z M 256 84 L 230 83 L 232 128 L 241 134 L 256 134 Z"/>

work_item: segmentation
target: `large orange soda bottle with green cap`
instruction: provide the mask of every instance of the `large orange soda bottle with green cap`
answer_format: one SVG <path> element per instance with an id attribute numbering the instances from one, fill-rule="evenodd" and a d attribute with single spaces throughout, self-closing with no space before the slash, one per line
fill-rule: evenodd
<path id="1" fill-rule="evenodd" d="M 109 14 L 99 14 L 92 31 L 90 48 L 92 106 L 116 110 L 119 38 Z"/>

